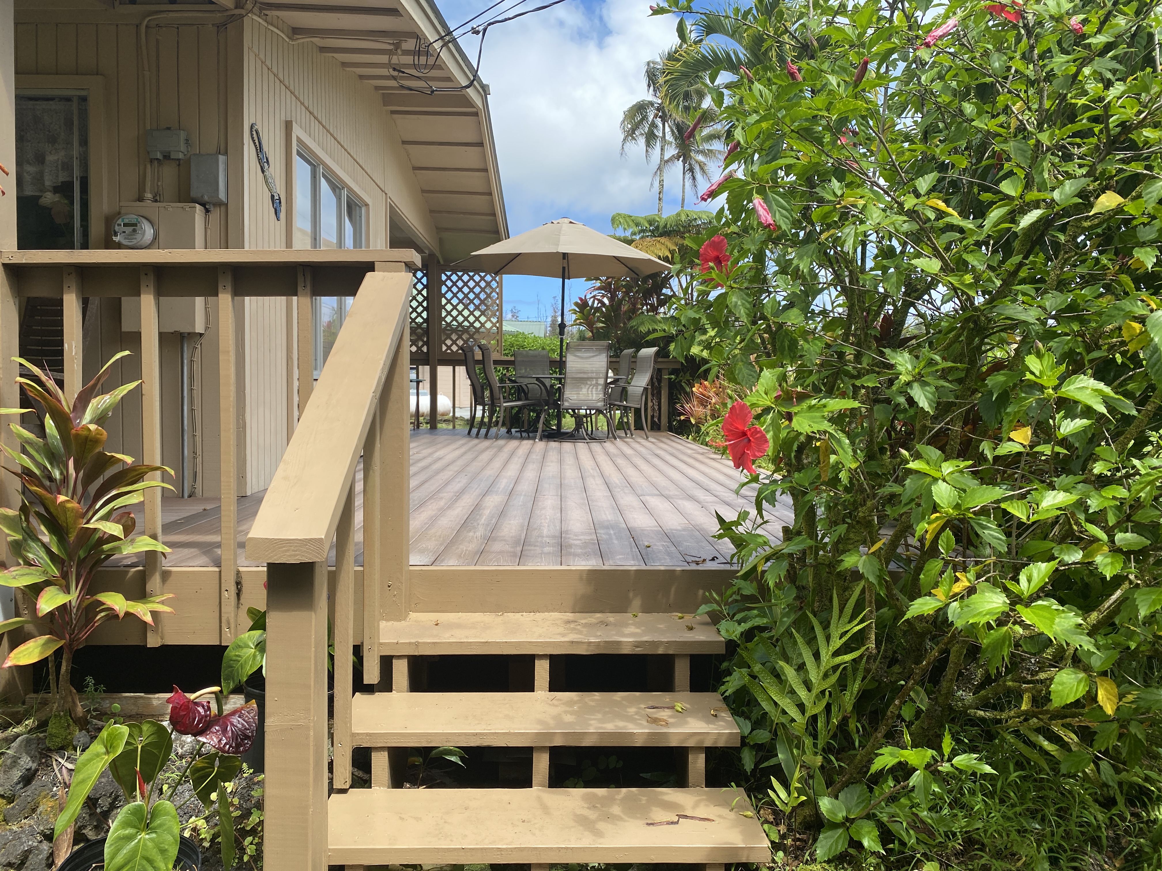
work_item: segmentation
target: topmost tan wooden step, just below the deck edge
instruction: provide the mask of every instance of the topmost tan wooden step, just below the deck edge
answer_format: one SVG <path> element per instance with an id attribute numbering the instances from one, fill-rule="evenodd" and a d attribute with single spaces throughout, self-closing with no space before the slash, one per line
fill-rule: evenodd
<path id="1" fill-rule="evenodd" d="M 726 642 L 689 614 L 413 613 L 379 625 L 383 656 L 452 654 L 715 654 Z"/>

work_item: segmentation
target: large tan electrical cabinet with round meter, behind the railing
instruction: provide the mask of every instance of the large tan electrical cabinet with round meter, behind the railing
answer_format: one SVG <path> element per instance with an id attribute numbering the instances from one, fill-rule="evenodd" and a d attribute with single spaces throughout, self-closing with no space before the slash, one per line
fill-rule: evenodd
<path id="1" fill-rule="evenodd" d="M 206 209 L 193 202 L 123 202 L 121 216 L 145 218 L 155 228 L 149 249 L 206 247 Z M 122 222 L 128 223 L 128 222 Z M 141 332 L 141 300 L 121 300 L 121 330 Z M 158 332 L 206 332 L 206 297 L 163 296 L 158 300 Z"/>

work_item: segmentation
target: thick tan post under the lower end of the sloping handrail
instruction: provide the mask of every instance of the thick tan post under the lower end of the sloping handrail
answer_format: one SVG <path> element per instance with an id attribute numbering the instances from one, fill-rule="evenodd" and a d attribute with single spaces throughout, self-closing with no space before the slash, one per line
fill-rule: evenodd
<path id="1" fill-rule="evenodd" d="M 327 561 L 266 567 L 263 864 L 327 868 Z"/>

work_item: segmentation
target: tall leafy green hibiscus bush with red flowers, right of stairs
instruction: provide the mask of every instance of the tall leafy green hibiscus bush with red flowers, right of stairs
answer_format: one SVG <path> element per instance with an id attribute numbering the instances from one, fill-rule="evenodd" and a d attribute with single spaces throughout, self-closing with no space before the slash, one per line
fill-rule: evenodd
<path id="1" fill-rule="evenodd" d="M 716 82 L 739 147 L 657 324 L 770 441 L 726 422 L 758 495 L 710 606 L 768 832 L 1133 852 L 990 842 L 961 797 L 1003 761 L 1132 822 L 1162 785 L 1157 6 L 675 12 L 667 74 Z"/>

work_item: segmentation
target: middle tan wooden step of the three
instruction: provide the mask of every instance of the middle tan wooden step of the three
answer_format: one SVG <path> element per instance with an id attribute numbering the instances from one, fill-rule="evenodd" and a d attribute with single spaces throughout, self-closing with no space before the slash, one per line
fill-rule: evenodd
<path id="1" fill-rule="evenodd" d="M 674 710 L 679 703 L 684 710 Z M 738 747 L 716 692 L 359 693 L 353 747 Z"/>

